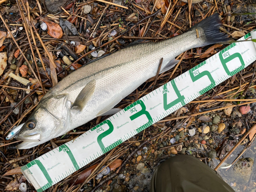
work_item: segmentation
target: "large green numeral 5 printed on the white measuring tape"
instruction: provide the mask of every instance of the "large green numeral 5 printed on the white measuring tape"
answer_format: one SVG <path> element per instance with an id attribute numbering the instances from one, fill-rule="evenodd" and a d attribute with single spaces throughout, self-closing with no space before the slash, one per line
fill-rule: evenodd
<path id="1" fill-rule="evenodd" d="M 202 62 L 201 64 L 199 64 L 198 66 L 196 66 L 195 68 L 192 68 L 191 70 L 189 70 L 189 75 L 192 79 L 193 82 L 199 80 L 200 78 L 202 78 L 203 76 L 207 76 L 210 80 L 210 85 L 207 86 L 206 88 L 202 89 L 201 91 L 199 91 L 199 94 L 202 95 L 205 92 L 209 91 L 210 89 L 215 87 L 215 80 L 214 78 L 212 78 L 211 74 L 209 71 L 202 71 L 199 72 L 198 68 L 202 67 L 203 65 L 205 65 L 205 61 Z"/>

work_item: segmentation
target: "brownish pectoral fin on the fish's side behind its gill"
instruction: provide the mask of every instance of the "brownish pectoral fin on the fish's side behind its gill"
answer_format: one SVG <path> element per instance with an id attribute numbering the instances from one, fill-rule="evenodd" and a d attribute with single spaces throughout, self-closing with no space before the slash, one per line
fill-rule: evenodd
<path id="1" fill-rule="evenodd" d="M 86 87 L 84 87 L 82 91 L 78 94 L 75 102 L 71 106 L 71 110 L 82 111 L 86 103 L 89 101 L 89 99 L 93 95 L 95 87 L 96 87 L 96 81 L 91 80 L 86 85 Z"/>

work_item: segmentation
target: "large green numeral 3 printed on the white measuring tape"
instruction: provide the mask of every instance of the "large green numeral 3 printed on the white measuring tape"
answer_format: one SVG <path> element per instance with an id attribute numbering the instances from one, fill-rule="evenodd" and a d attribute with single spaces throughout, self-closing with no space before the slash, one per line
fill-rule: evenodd
<path id="1" fill-rule="evenodd" d="M 136 132 L 140 133 L 142 130 L 146 129 L 146 127 L 153 124 L 153 119 L 152 119 L 150 113 L 148 113 L 148 111 L 146 111 L 146 106 L 145 106 L 145 104 L 142 100 L 138 100 L 138 101 L 134 102 L 133 104 L 127 106 L 124 109 L 124 111 L 130 110 L 131 108 L 133 108 L 137 104 L 139 104 L 141 106 L 141 110 L 139 112 L 135 113 L 134 115 L 130 116 L 130 119 L 133 121 L 134 119 L 140 117 L 141 115 L 145 115 L 147 117 L 147 120 L 148 120 L 148 122 L 146 124 L 140 126 L 138 129 L 136 129 Z"/>

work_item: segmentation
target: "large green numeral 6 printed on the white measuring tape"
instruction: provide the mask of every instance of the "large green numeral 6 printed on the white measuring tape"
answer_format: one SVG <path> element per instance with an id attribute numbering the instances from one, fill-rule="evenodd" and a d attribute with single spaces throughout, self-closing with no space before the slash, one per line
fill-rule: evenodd
<path id="1" fill-rule="evenodd" d="M 224 49 L 224 50 L 220 51 L 219 56 L 220 56 L 222 66 L 224 67 L 226 73 L 229 76 L 233 76 L 234 74 L 238 73 L 239 71 L 241 71 L 245 68 L 244 59 L 240 53 L 234 53 L 234 54 L 230 55 L 229 52 L 226 49 Z M 224 59 L 223 56 L 226 58 Z M 241 67 L 239 67 L 238 69 L 235 69 L 233 71 L 229 71 L 229 69 L 227 67 L 227 62 L 231 61 L 234 58 L 239 58 L 239 60 L 241 62 Z"/>

